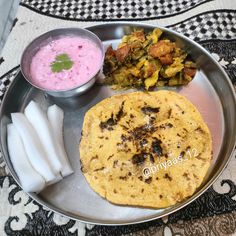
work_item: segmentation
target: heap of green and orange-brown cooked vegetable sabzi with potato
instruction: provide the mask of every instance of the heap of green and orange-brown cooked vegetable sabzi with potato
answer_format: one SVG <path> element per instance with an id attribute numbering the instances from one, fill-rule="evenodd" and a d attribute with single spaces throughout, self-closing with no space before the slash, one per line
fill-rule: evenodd
<path id="1" fill-rule="evenodd" d="M 103 67 L 104 82 L 114 89 L 146 90 L 188 84 L 196 74 L 196 64 L 162 33 L 159 28 L 148 34 L 136 30 L 125 35 L 116 50 L 110 45 Z"/>

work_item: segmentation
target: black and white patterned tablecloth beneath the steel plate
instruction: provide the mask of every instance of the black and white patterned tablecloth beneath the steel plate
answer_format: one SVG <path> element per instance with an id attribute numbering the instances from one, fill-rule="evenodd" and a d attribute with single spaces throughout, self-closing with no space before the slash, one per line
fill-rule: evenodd
<path id="1" fill-rule="evenodd" d="M 0 56 L 0 99 L 19 70 L 23 48 L 59 27 L 86 27 L 108 21 L 166 26 L 199 42 L 228 73 L 236 88 L 235 0 L 23 0 Z M 0 157 L 0 235 L 233 235 L 236 232 L 236 158 L 196 201 L 149 223 L 88 225 L 32 201 Z M 236 234 L 235 234 L 236 235 Z"/>

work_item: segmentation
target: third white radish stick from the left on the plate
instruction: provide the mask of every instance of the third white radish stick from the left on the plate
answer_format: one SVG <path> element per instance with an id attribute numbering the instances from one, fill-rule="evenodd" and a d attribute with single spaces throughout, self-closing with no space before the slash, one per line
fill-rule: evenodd
<path id="1" fill-rule="evenodd" d="M 54 173 L 59 175 L 62 169 L 62 163 L 59 159 L 52 128 L 46 114 L 36 102 L 31 101 L 25 108 L 25 116 L 38 134 L 43 148 L 46 151 L 51 168 Z"/>

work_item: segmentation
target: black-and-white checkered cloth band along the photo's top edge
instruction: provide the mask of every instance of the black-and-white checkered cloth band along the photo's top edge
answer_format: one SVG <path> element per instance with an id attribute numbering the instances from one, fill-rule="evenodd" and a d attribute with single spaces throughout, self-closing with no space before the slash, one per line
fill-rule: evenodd
<path id="1" fill-rule="evenodd" d="M 22 0 L 42 14 L 71 20 L 158 19 L 212 0 Z"/>

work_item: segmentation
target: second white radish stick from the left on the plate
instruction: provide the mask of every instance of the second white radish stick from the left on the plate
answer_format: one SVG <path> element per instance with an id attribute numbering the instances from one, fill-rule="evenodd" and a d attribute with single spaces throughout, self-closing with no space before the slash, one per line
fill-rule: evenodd
<path id="1" fill-rule="evenodd" d="M 33 168 L 44 177 L 46 182 L 55 180 L 56 175 L 50 168 L 47 155 L 30 122 L 22 113 L 12 113 L 11 118 L 23 141 L 25 151 Z"/>

